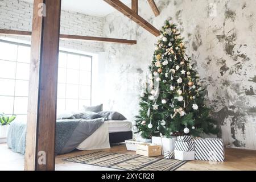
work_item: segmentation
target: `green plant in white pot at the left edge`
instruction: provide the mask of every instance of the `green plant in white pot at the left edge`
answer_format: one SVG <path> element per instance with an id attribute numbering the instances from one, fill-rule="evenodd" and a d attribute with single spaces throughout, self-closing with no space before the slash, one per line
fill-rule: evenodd
<path id="1" fill-rule="evenodd" d="M 6 137 L 10 123 L 14 121 L 16 115 L 11 115 L 10 117 L 5 115 L 5 113 L 0 114 L 0 143 L 6 142 Z"/>

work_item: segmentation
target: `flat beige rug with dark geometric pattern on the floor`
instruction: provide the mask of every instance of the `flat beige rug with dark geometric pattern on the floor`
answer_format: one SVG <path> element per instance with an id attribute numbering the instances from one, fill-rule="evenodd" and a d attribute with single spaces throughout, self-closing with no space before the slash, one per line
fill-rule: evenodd
<path id="1" fill-rule="evenodd" d="M 148 158 L 141 155 L 118 154 L 104 151 L 74 156 L 63 160 L 126 171 L 174 171 L 185 164 L 185 162 L 175 159 Z"/>

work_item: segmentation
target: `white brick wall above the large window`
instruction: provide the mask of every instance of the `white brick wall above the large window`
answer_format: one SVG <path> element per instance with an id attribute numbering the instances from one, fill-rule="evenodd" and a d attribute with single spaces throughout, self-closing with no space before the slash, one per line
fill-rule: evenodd
<path id="1" fill-rule="evenodd" d="M 31 31 L 33 5 L 19 0 L 0 0 L 0 28 Z M 103 36 L 103 18 L 61 11 L 61 34 Z M 13 36 L 12 36 L 13 37 Z M 24 39 L 24 38 L 19 38 Z M 102 52 L 99 42 L 61 40 L 60 47 L 86 52 Z"/>

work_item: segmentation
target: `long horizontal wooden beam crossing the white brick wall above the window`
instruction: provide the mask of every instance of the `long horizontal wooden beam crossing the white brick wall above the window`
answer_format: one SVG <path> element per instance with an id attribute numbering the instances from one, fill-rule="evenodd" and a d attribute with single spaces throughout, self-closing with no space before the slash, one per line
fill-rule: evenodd
<path id="1" fill-rule="evenodd" d="M 18 36 L 31 36 L 30 31 L 18 31 L 18 30 L 5 30 L 0 29 L 0 34 L 3 35 L 18 35 Z M 80 35 L 65 35 L 60 34 L 60 39 L 71 39 L 71 40 L 86 40 L 86 41 L 96 41 L 96 42 L 109 42 L 109 43 L 117 43 L 117 44 L 128 44 L 134 45 L 137 44 L 136 40 L 127 40 L 127 39 L 114 39 L 114 38 L 102 38 L 96 36 L 80 36 Z"/>

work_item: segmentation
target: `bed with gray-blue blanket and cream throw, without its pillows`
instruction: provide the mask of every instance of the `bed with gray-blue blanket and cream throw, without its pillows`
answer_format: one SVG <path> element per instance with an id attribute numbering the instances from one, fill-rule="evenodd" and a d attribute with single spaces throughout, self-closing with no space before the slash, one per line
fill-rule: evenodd
<path id="1" fill-rule="evenodd" d="M 26 146 L 26 122 L 11 123 L 7 144 L 14 152 L 24 154 Z M 130 121 L 96 119 L 57 119 L 55 154 L 78 150 L 110 148 L 110 144 L 133 138 Z"/>

